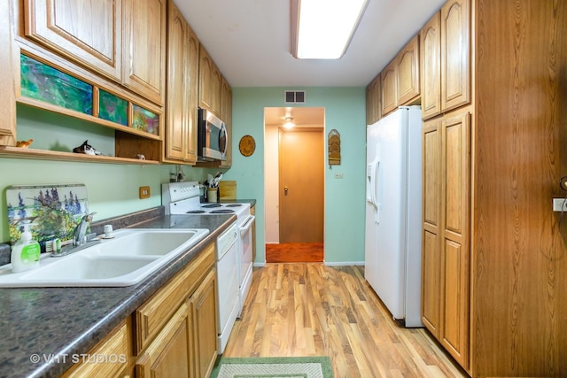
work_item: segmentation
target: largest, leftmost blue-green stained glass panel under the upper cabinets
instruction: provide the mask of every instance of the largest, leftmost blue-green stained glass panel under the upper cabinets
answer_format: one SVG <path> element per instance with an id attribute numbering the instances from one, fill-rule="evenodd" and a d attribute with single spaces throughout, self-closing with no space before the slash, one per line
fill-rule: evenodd
<path id="1" fill-rule="evenodd" d="M 20 54 L 21 94 L 92 115 L 92 85 Z"/>

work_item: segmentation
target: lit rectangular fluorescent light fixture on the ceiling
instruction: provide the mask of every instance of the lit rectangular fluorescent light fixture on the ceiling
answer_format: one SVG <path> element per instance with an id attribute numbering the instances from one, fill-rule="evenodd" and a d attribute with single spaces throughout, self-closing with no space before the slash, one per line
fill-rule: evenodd
<path id="1" fill-rule="evenodd" d="M 341 58 L 369 0 L 291 0 L 291 53 L 299 59 Z"/>

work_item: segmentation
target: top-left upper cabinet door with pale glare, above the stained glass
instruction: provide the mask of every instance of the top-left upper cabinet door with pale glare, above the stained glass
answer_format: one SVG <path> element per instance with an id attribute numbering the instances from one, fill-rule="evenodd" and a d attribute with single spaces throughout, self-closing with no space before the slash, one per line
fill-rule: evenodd
<path id="1" fill-rule="evenodd" d="M 26 0 L 25 33 L 120 82 L 121 0 Z"/>

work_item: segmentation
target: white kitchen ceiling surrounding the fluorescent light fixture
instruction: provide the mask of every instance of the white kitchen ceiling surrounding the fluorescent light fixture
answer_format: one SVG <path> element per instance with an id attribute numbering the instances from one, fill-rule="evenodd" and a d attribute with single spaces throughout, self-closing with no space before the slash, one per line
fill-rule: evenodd
<path id="1" fill-rule="evenodd" d="M 366 87 L 445 1 L 369 0 L 343 58 L 299 60 L 289 0 L 174 0 L 232 87 Z"/>

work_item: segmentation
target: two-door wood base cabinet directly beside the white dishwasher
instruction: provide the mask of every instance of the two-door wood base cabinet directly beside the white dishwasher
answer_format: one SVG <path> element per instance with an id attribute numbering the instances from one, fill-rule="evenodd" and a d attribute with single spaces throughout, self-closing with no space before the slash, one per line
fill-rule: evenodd
<path id="1" fill-rule="evenodd" d="M 218 354 L 214 243 L 134 313 L 136 376 L 206 377 Z"/>

